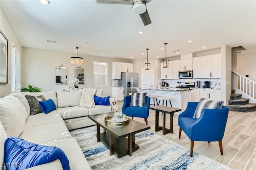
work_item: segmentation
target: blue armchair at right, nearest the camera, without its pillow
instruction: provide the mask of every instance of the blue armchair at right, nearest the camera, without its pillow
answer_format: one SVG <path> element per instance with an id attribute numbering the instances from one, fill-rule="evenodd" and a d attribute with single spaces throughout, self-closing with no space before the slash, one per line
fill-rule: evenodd
<path id="1" fill-rule="evenodd" d="M 193 156 L 194 141 L 218 141 L 220 154 L 223 155 L 222 139 L 228 119 L 228 107 L 222 106 L 220 109 L 203 109 L 202 115 L 196 119 L 193 118 L 198 102 L 188 102 L 184 112 L 179 115 L 178 125 L 181 130 L 191 140 L 190 156 Z"/>

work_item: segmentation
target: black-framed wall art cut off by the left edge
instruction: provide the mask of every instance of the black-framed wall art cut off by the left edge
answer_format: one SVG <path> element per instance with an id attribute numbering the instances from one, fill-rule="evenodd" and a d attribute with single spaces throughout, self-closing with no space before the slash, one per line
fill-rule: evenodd
<path id="1" fill-rule="evenodd" d="M 0 30 L 0 84 L 8 83 L 8 39 Z"/>

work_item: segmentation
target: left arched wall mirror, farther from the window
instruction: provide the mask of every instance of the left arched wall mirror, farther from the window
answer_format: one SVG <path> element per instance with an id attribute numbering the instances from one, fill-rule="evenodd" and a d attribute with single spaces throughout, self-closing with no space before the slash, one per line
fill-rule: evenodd
<path id="1" fill-rule="evenodd" d="M 68 68 L 62 64 L 55 68 L 55 82 L 56 84 L 68 84 Z"/>

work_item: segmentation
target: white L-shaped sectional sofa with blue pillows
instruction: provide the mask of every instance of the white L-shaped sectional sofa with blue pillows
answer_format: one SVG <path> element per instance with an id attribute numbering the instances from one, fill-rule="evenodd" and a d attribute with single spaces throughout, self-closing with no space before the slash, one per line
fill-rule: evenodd
<path id="1" fill-rule="evenodd" d="M 4 168 L 4 142 L 10 136 L 19 137 L 40 145 L 59 147 L 68 157 L 71 170 L 91 169 L 80 146 L 76 139 L 71 137 L 69 130 L 94 125 L 94 122 L 88 119 L 88 115 L 109 113 L 111 112 L 111 106 L 78 107 L 82 98 L 86 97 L 86 93 L 83 93 L 82 90 L 77 92 L 12 92 L 0 99 L 1 169 Z M 42 95 L 45 100 L 52 99 L 56 109 L 47 114 L 30 115 L 30 104 L 26 95 Z M 103 90 L 97 90 L 95 95 L 103 97 Z M 109 100 L 111 105 L 114 99 L 110 98 Z M 58 170 L 62 169 L 62 165 L 60 160 L 57 159 L 29 169 Z"/>

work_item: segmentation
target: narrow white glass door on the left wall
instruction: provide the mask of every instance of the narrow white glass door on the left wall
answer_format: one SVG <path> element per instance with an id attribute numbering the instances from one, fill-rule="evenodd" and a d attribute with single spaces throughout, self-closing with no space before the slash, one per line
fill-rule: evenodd
<path id="1" fill-rule="evenodd" d="M 20 92 L 20 52 L 12 43 L 12 82 L 11 91 Z"/>

